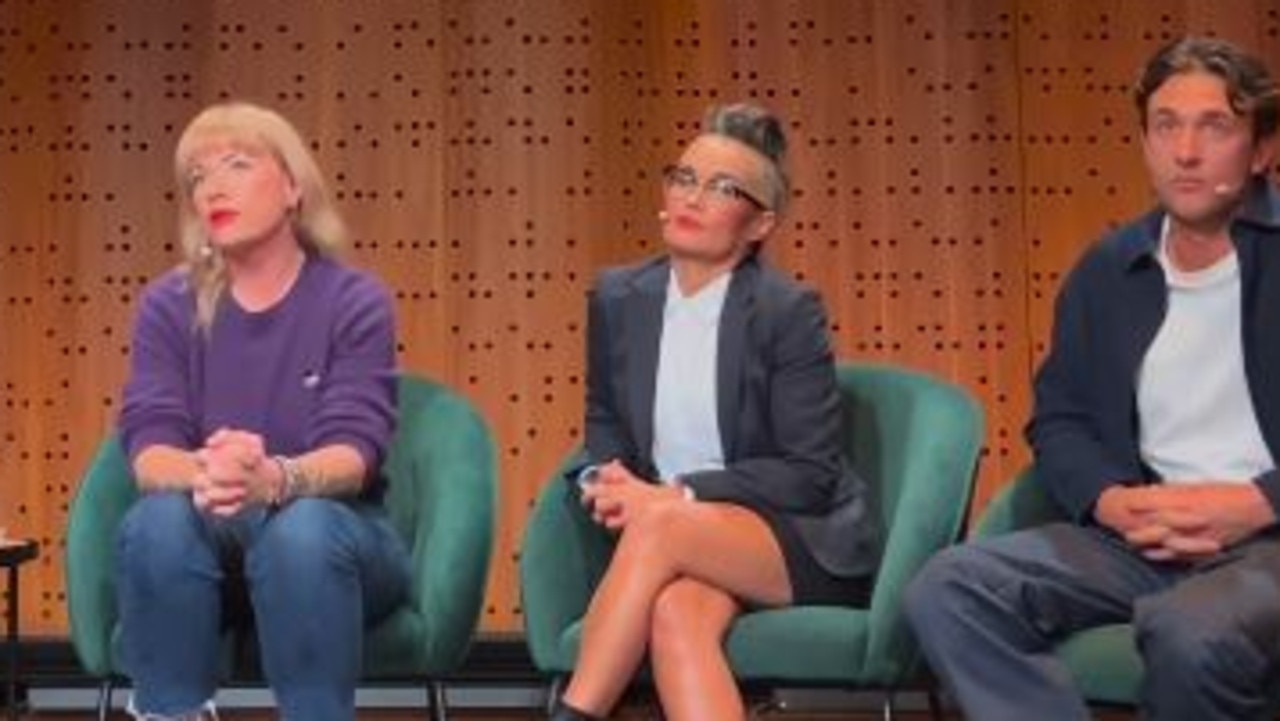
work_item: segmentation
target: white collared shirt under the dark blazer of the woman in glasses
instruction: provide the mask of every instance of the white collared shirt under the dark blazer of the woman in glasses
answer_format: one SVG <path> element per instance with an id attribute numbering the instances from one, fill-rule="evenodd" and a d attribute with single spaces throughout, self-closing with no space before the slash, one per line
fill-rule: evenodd
<path id="1" fill-rule="evenodd" d="M 675 270 L 667 280 L 653 402 L 653 460 L 668 483 L 681 474 L 724 467 L 716 368 L 719 318 L 731 275 L 721 275 L 689 297 L 680 292 Z"/>

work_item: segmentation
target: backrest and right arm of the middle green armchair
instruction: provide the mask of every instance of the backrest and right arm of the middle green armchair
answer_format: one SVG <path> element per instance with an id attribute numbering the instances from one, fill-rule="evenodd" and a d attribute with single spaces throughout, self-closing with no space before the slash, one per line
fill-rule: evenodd
<path id="1" fill-rule="evenodd" d="M 883 555 L 870 604 L 867 668 L 895 680 L 910 670 L 910 630 L 902 593 L 938 549 L 964 528 L 984 435 L 982 407 L 960 387 L 902 368 L 838 368 L 845 447 L 870 484 L 883 531 Z M 883 666 L 877 668 L 877 666 Z"/>

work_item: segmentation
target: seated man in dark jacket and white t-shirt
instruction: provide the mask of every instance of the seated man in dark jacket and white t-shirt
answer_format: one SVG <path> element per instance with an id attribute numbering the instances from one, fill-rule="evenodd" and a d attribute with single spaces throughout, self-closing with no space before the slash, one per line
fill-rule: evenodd
<path id="1" fill-rule="evenodd" d="M 970 718 L 1088 718 L 1053 647 L 1105 624 L 1134 624 L 1144 717 L 1266 718 L 1280 680 L 1276 87 L 1187 38 L 1135 100 L 1160 207 L 1066 279 L 1028 425 L 1071 523 L 951 549 L 909 592 Z"/>

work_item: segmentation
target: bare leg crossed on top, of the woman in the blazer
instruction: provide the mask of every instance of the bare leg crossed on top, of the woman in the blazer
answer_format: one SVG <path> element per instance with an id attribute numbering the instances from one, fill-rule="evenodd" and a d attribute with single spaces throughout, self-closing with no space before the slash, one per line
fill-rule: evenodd
<path id="1" fill-rule="evenodd" d="M 726 503 L 654 506 L 622 533 L 591 599 L 566 702 L 595 716 L 613 708 L 644 657 L 659 593 L 681 578 L 755 603 L 791 602 L 782 552 L 754 512 Z"/>

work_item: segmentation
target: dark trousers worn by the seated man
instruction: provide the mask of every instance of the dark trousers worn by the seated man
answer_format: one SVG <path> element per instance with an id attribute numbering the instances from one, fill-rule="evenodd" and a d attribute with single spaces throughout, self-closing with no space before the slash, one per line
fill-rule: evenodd
<path id="1" fill-rule="evenodd" d="M 908 589 L 906 612 L 968 718 L 1089 718 L 1053 647 L 1129 622 L 1158 721 L 1268 718 L 1280 681 L 1280 535 L 1199 563 L 1158 563 L 1123 538 L 1053 524 L 957 546 Z"/>

